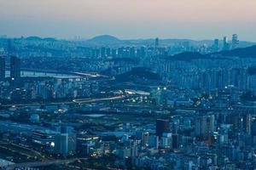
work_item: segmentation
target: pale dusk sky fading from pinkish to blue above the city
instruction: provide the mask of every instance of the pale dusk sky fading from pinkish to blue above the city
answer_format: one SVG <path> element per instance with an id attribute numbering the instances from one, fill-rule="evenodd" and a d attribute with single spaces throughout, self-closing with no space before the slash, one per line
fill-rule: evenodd
<path id="1" fill-rule="evenodd" d="M 0 0 L 0 35 L 256 42 L 256 0 Z"/>

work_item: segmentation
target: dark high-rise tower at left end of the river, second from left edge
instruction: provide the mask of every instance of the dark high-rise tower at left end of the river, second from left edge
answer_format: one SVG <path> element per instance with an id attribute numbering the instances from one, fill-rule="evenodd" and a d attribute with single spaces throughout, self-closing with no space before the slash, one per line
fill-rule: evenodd
<path id="1" fill-rule="evenodd" d="M 14 82 L 20 80 L 20 59 L 14 55 L 10 57 L 10 78 Z"/>

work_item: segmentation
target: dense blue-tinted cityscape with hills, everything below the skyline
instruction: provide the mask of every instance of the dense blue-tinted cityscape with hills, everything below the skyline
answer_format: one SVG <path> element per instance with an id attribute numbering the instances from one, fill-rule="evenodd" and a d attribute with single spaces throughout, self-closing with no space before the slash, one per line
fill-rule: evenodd
<path id="1" fill-rule="evenodd" d="M 256 43 L 0 39 L 0 169 L 255 169 Z"/>

